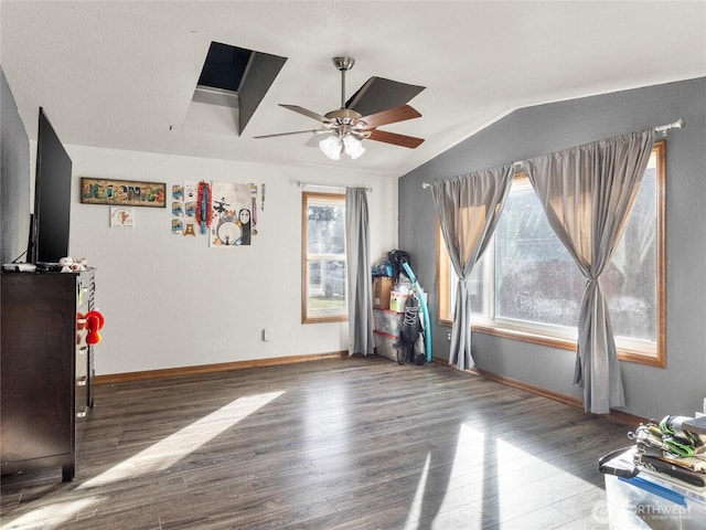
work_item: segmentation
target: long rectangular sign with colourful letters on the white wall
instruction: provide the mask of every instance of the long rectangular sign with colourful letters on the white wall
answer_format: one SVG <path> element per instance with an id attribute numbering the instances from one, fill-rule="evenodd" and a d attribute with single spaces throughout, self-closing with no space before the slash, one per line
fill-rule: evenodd
<path id="1" fill-rule="evenodd" d="M 167 208 L 167 184 L 82 177 L 81 202 L 113 206 Z"/>

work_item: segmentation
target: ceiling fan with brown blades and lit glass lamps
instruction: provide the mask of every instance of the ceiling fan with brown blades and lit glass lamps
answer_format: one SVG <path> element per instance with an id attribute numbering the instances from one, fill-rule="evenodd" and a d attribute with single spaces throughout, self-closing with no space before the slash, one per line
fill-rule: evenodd
<path id="1" fill-rule="evenodd" d="M 409 149 L 418 147 L 424 141 L 422 138 L 388 132 L 377 128 L 383 125 L 421 117 L 421 114 L 411 106 L 406 105 L 406 102 L 421 92 L 424 89 L 422 86 L 405 85 L 381 77 L 371 77 L 346 102 L 345 73 L 353 67 L 355 60 L 353 57 L 333 57 L 333 64 L 341 72 L 341 108 L 320 115 L 298 105 L 285 105 L 280 103 L 279 105 L 281 107 L 313 118 L 320 121 L 321 126 L 318 129 L 295 130 L 291 132 L 256 136 L 255 138 L 272 138 L 301 134 L 327 135 L 327 137 L 319 142 L 319 148 L 327 157 L 333 160 L 339 160 L 342 152 L 345 152 L 354 159 L 360 157 L 365 152 L 365 148 L 361 142 L 361 140 L 365 139 L 393 144 Z M 367 102 L 365 98 L 366 95 Z M 375 103 L 372 102 L 373 99 L 375 99 Z M 387 102 L 391 102 L 395 106 L 384 110 L 373 110 L 365 116 L 356 110 L 356 108 L 376 108 L 375 105 L 378 106 L 383 99 L 387 99 Z"/>

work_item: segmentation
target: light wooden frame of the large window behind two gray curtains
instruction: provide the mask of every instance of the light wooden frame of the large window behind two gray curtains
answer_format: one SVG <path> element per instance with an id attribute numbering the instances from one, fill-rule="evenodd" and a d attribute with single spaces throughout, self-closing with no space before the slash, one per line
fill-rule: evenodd
<path id="1" fill-rule="evenodd" d="M 666 140 L 656 141 L 652 148 L 652 155 L 655 159 L 655 201 L 656 201 L 656 221 L 655 221 L 655 242 L 656 242 L 656 304 L 655 311 L 656 327 L 655 341 L 644 341 L 638 339 L 624 339 L 621 343 L 617 341 L 618 359 L 621 361 L 634 362 L 656 368 L 666 368 Z M 515 172 L 515 179 L 526 178 L 522 171 Z M 490 247 L 491 245 L 489 245 Z M 490 250 L 490 248 L 489 248 Z M 451 262 L 449 259 L 440 225 L 437 221 L 437 286 L 438 286 L 438 319 L 441 326 L 451 326 L 453 324 L 451 307 Z M 486 293 L 492 293 L 490 287 Z M 489 298 L 493 298 L 490 296 Z M 491 308 L 491 311 L 494 309 Z M 491 312 L 492 315 L 492 312 Z M 473 331 L 492 335 L 495 337 L 510 338 L 523 342 L 532 342 L 553 348 L 576 351 L 577 329 L 567 328 L 569 332 L 560 332 L 558 326 L 543 326 L 531 324 L 511 324 L 507 320 L 491 318 L 479 319 L 471 317 L 471 326 Z M 646 346 L 649 344 L 649 348 Z M 641 348 L 642 346 L 642 348 Z M 652 350 L 652 351 L 649 351 Z"/>

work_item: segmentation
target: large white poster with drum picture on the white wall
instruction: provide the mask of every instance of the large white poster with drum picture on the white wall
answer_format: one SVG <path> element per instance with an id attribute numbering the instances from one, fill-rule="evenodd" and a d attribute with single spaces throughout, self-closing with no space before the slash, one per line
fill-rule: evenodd
<path id="1" fill-rule="evenodd" d="M 253 235 L 250 184 L 213 182 L 210 246 L 245 246 Z"/>

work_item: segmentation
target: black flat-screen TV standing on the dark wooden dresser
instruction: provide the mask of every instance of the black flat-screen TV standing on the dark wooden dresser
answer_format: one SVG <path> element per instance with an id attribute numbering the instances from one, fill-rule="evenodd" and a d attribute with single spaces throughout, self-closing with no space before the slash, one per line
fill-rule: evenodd
<path id="1" fill-rule="evenodd" d="M 32 263 L 54 264 L 68 255 L 71 171 L 71 158 L 40 107 Z"/>

